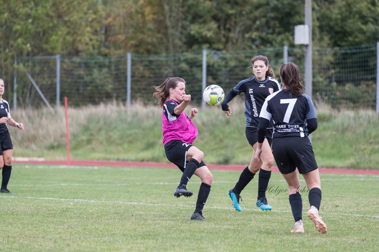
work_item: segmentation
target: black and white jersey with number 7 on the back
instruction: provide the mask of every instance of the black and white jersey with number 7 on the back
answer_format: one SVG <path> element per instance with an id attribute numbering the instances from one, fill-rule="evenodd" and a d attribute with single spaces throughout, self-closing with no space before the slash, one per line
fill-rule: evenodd
<path id="1" fill-rule="evenodd" d="M 306 121 L 316 118 L 313 102 L 307 94 L 290 96 L 288 89 L 269 95 L 263 104 L 260 117 L 274 123 L 273 138 L 284 136 L 308 136 Z"/>

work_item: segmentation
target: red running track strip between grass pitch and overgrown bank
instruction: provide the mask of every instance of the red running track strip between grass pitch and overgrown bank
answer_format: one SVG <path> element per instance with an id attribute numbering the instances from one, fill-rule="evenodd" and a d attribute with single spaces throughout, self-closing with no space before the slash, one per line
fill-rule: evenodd
<path id="1" fill-rule="evenodd" d="M 53 165 L 67 165 L 67 161 L 18 161 L 14 160 L 13 163 L 24 164 L 53 164 Z M 121 166 L 121 167 L 160 167 L 160 168 L 177 168 L 172 163 L 157 163 L 157 162 L 129 162 L 129 161 L 94 161 L 94 160 L 71 160 L 70 165 L 88 165 L 88 166 Z M 246 166 L 244 165 L 225 165 L 225 164 L 208 164 L 210 170 L 228 170 L 228 171 L 242 171 Z M 273 166 L 273 172 L 279 172 L 278 167 Z M 371 174 L 379 175 L 379 170 L 358 170 L 358 169 L 342 169 L 342 168 L 319 168 L 320 173 L 343 173 L 343 174 Z"/>

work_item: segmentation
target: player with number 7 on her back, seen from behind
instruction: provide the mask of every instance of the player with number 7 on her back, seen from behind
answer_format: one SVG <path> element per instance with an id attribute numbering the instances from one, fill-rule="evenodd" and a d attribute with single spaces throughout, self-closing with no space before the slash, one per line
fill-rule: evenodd
<path id="1" fill-rule="evenodd" d="M 288 184 L 290 205 L 295 220 L 291 233 L 304 233 L 302 222 L 302 199 L 300 181 L 296 167 L 307 183 L 309 190 L 308 217 L 315 223 L 320 233 L 327 228 L 318 210 L 321 203 L 321 181 L 318 166 L 313 153 L 309 134 L 316 130 L 317 119 L 313 102 L 304 94 L 299 68 L 294 63 L 280 67 L 280 80 L 283 90 L 267 97 L 260 112 L 258 125 L 258 146 L 255 158 L 260 160 L 265 140 L 266 127 L 274 122 L 273 154 L 279 171 Z"/>

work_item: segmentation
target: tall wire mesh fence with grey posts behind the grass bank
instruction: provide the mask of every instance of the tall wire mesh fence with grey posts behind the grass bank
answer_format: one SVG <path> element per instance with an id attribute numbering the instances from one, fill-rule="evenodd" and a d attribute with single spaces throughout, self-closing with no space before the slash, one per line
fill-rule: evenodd
<path id="1" fill-rule="evenodd" d="M 375 110 L 377 52 L 377 44 L 314 48 L 314 102 L 333 108 Z M 252 68 L 248 67 L 255 55 L 268 57 L 277 78 L 285 61 L 296 63 L 304 76 L 304 53 L 304 48 L 285 46 L 251 51 L 208 50 L 205 59 L 202 51 L 91 58 L 22 57 L 15 63 L 14 96 L 7 92 L 6 99 L 14 109 L 49 106 L 54 110 L 64 103 L 64 96 L 70 106 L 104 102 L 153 105 L 157 104 L 152 96 L 153 86 L 160 85 L 167 77 L 179 76 L 186 80 L 186 93 L 191 94 L 193 103 L 200 105 L 204 85 L 218 84 L 228 92 L 241 80 L 251 77 Z"/>

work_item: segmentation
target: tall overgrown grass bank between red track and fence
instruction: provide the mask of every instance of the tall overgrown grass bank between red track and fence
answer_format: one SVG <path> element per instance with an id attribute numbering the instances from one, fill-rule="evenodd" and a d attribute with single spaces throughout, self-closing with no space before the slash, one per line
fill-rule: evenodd
<path id="1" fill-rule="evenodd" d="M 252 148 L 245 136 L 243 100 L 233 99 L 229 105 L 232 116 L 222 113 L 219 106 L 207 106 L 193 120 L 199 130 L 194 145 L 205 153 L 208 164 L 250 162 Z M 158 105 L 69 107 L 70 157 L 168 162 L 161 113 Z M 379 169 L 379 117 L 374 111 L 337 111 L 324 104 L 316 106 L 316 114 L 318 128 L 312 133 L 312 145 L 319 167 Z M 52 114 L 47 108 L 12 112 L 14 119 L 25 125 L 23 131 L 9 127 L 13 156 L 66 160 L 64 115 L 63 109 Z"/>

